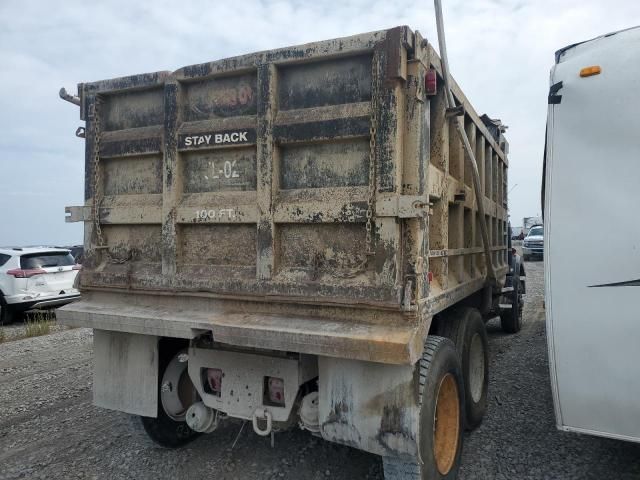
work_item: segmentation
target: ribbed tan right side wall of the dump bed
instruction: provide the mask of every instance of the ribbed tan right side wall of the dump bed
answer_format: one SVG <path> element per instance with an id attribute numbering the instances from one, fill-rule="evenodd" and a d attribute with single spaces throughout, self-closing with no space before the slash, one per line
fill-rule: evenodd
<path id="1" fill-rule="evenodd" d="M 420 124 L 418 117 L 424 118 L 428 127 L 428 151 L 422 157 L 424 163 L 420 158 L 417 161 L 426 178 L 429 216 L 426 228 L 412 220 L 407 222 L 406 236 L 422 244 L 416 245 L 415 250 L 408 249 L 405 255 L 415 255 L 406 259 L 407 270 L 416 273 L 420 312 L 423 317 L 429 317 L 487 286 L 488 259 L 482 244 L 482 221 L 487 225 L 489 261 L 496 275 L 492 293 L 498 295 L 504 286 L 508 270 L 508 143 L 503 135 L 506 127 L 499 120 L 479 116 L 455 81 L 452 88 L 458 108 L 457 111 L 447 109 L 440 58 L 419 33 L 416 33 L 415 45 L 415 59 L 408 66 L 409 76 L 422 81 L 427 75 L 426 92 L 424 97 L 419 90 L 417 95 L 407 95 L 410 112 L 407 131 Z M 478 212 L 472 171 L 454 127 L 453 115 L 464 116 L 480 176 L 484 219 Z M 405 169 L 411 165 L 412 158 L 407 156 L 410 152 L 411 149 L 405 149 Z M 421 237 L 422 233 L 427 237 Z"/>

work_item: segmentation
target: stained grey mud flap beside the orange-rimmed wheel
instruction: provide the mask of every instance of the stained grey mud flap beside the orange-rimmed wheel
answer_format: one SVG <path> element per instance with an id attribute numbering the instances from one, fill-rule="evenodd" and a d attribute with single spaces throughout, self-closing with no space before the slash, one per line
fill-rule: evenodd
<path id="1" fill-rule="evenodd" d="M 416 458 L 418 373 L 413 365 L 320 357 L 321 435 L 370 453 Z"/>

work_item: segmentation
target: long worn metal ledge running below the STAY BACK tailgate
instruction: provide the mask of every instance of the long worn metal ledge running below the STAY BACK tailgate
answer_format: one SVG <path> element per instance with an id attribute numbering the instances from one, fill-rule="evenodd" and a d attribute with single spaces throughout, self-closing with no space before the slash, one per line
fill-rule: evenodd
<path id="1" fill-rule="evenodd" d="M 420 359 L 428 322 L 321 317 L 312 313 L 240 313 L 211 298 L 85 292 L 56 312 L 69 326 L 159 337 L 195 338 L 210 332 L 216 342 L 388 364 Z"/>

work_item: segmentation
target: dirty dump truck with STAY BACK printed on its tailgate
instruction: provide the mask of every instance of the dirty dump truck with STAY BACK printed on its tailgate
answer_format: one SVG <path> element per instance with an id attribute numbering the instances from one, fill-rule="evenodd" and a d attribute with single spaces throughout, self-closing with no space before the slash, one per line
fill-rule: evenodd
<path id="1" fill-rule="evenodd" d="M 61 90 L 85 121 L 85 255 L 58 318 L 94 329 L 94 403 L 167 447 L 242 419 L 388 479 L 455 476 L 485 322 L 519 330 L 524 271 L 502 130 L 442 75 L 403 26 Z"/>

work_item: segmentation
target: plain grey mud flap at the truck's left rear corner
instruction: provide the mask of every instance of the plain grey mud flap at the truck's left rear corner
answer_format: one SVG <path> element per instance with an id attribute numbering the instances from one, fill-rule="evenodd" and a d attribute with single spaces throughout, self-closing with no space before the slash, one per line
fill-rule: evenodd
<path id="1" fill-rule="evenodd" d="M 158 337 L 93 331 L 93 403 L 134 415 L 157 416 Z"/>

